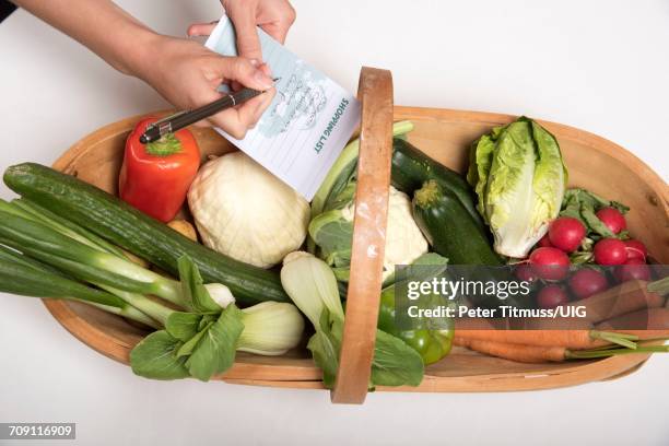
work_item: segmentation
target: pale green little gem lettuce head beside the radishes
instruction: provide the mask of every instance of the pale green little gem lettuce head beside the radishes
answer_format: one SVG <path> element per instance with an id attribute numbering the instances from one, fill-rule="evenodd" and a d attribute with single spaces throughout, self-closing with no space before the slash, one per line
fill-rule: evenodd
<path id="1" fill-rule="evenodd" d="M 467 180 L 497 254 L 527 256 L 560 212 L 566 176 L 558 141 L 529 118 L 495 127 L 472 144 Z"/>

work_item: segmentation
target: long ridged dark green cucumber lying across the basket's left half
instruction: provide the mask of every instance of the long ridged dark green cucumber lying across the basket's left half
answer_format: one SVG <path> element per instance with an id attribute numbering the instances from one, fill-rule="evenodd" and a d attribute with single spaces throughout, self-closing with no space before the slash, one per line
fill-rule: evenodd
<path id="1" fill-rule="evenodd" d="M 35 163 L 4 172 L 7 186 L 156 267 L 178 277 L 177 260 L 188 255 L 207 283 L 222 283 L 244 305 L 290 302 L 275 271 L 231 259 L 190 240 L 117 197 L 73 176 Z"/>

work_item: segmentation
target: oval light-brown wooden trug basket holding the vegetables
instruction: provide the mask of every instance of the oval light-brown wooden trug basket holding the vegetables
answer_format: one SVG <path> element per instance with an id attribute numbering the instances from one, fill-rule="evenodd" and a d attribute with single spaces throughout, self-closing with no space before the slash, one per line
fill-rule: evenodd
<path id="1" fill-rule="evenodd" d="M 410 119 L 409 140 L 431 157 L 459 172 L 467 168 L 468 146 L 494 126 L 514 116 L 449 109 L 392 106 L 392 81 L 384 70 L 363 68 L 359 184 L 355 197 L 353 258 L 347 302 L 341 365 L 332 401 L 362 403 L 367 392 L 378 313 L 385 222 L 390 180 L 391 124 Z M 116 192 L 128 132 L 141 116 L 105 126 L 62 154 L 54 167 Z M 631 207 L 631 233 L 669 263 L 669 191 L 649 167 L 621 146 L 572 127 L 541 121 L 559 140 L 570 169 L 570 186 L 584 187 Z M 203 159 L 234 149 L 211 129 L 192 128 Z M 365 203 L 365 204 L 363 204 Z M 357 212 L 357 210 L 366 212 Z M 368 253 L 376 250 L 376 256 Z M 54 317 L 79 340 L 108 357 L 128 363 L 132 347 L 146 334 L 120 317 L 84 304 L 45 300 Z M 605 380 L 638 368 L 647 354 L 560 364 L 520 364 L 455 348 L 426 367 L 419 387 L 377 388 L 380 391 L 514 391 L 538 390 Z M 308 352 L 283 356 L 238 353 L 223 376 L 227 383 L 322 389 L 320 371 Z"/>

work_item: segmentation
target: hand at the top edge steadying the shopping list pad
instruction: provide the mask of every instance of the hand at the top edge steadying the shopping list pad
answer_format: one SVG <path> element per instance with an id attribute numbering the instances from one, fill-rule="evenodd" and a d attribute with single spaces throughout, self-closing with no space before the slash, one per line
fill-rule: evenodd
<path id="1" fill-rule="evenodd" d="M 256 26 L 281 42 L 295 22 L 295 10 L 287 0 L 221 0 L 225 13 L 235 25 L 237 52 L 242 57 L 262 60 Z M 197 23 L 188 27 L 189 36 L 208 36 L 215 23 Z"/>

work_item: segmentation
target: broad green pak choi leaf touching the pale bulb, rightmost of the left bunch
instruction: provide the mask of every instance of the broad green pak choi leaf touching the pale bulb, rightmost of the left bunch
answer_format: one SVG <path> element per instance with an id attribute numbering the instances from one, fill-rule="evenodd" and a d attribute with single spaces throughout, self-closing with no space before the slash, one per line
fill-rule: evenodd
<path id="1" fill-rule="evenodd" d="M 204 330 L 188 357 L 186 366 L 190 375 L 206 382 L 230 368 L 235 361 L 237 341 L 243 330 L 242 310 L 234 304 L 228 305 L 219 319 Z"/>

